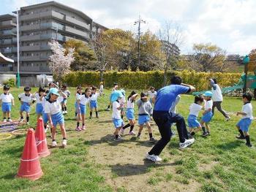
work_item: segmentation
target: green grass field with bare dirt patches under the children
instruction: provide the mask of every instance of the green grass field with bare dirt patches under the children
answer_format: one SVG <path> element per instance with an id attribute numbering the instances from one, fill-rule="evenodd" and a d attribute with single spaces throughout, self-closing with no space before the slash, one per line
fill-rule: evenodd
<path id="1" fill-rule="evenodd" d="M 29 181 L 15 179 L 25 137 L 0 141 L 0 191 L 256 191 L 256 150 L 235 139 L 239 117 L 232 116 L 226 122 L 216 112 L 211 121 L 210 137 L 197 134 L 194 145 L 178 150 L 176 136 L 160 155 L 162 163 L 154 164 L 144 159 L 153 146 L 148 142 L 146 129 L 140 140 L 125 135 L 124 142 L 113 141 L 111 112 L 104 111 L 110 91 L 99 98 L 99 119 L 86 119 L 88 129 L 74 131 L 75 89 L 70 91 L 69 113 L 65 116 L 67 148 L 50 149 L 51 155 L 40 159 L 44 175 L 37 181 Z M 12 119 L 17 120 L 20 107 L 17 98 L 22 89 L 12 88 L 11 92 L 15 96 Z M 192 101 L 192 96 L 181 96 L 178 112 L 185 118 Z M 252 104 L 256 109 L 256 102 L 252 101 Z M 35 128 L 34 107 L 31 109 L 31 125 L 23 128 Z M 227 112 L 236 112 L 241 107 L 240 98 L 225 97 L 223 108 Z M 154 137 L 159 139 L 157 126 L 154 122 L 152 125 Z M 252 145 L 256 145 L 255 122 L 250 134 Z M 57 142 L 61 144 L 60 131 Z M 48 144 L 51 144 L 50 137 Z"/>

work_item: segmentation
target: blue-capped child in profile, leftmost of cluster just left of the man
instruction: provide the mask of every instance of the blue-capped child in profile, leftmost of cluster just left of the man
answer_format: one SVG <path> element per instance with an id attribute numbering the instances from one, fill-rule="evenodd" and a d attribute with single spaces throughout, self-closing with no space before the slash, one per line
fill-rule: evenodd
<path id="1" fill-rule="evenodd" d="M 121 105 L 121 98 L 122 98 L 122 93 L 121 92 L 116 92 L 115 96 L 117 97 L 116 101 L 113 101 L 113 112 L 112 112 L 112 120 L 113 120 L 113 124 L 116 128 L 115 131 L 115 141 L 122 141 L 123 139 L 121 138 L 121 136 L 119 135 L 119 131 L 121 130 L 121 128 L 124 126 L 124 120 L 121 119 L 121 107 L 123 107 Z"/>

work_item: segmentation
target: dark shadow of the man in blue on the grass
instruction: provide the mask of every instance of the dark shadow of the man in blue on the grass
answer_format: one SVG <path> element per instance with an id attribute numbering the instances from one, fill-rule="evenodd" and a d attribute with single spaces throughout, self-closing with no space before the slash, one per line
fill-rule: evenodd
<path id="1" fill-rule="evenodd" d="M 140 165 L 116 164 L 116 165 L 111 165 L 110 168 L 111 168 L 111 172 L 118 175 L 118 177 L 125 177 L 125 176 L 131 176 L 131 175 L 145 174 L 147 172 L 150 172 L 151 167 L 161 167 L 161 166 L 175 166 L 175 164 L 173 163 L 159 164 L 159 163 L 154 163 L 153 161 L 144 159 L 144 164 L 140 164 Z"/>

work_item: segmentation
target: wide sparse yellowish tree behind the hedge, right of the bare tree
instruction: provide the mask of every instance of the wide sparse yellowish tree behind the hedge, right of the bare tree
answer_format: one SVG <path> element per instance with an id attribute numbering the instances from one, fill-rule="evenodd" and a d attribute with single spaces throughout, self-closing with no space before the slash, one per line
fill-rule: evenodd
<path id="1" fill-rule="evenodd" d="M 190 69 L 197 72 L 225 72 L 228 64 L 225 61 L 225 50 L 217 45 L 194 44 L 194 54 L 187 57 Z"/>

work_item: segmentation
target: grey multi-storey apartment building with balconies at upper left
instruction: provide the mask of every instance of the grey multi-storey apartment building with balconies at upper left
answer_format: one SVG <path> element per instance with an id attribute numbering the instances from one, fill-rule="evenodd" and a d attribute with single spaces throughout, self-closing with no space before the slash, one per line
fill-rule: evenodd
<path id="1" fill-rule="evenodd" d="M 106 29 L 104 26 L 95 23 L 83 12 L 59 4 L 56 1 L 20 7 L 18 12 L 21 77 L 51 74 L 48 68 L 48 58 L 52 52 L 48 42 L 52 39 L 58 40 L 61 44 L 69 39 L 80 39 L 83 42 L 89 42 L 93 33 Z M 12 15 L 9 15 L 8 20 L 4 20 L 4 15 L 0 16 L 0 20 L 1 18 L 3 18 L 3 21 L 0 22 L 0 30 L 3 28 L 2 34 L 5 33 L 6 38 L 0 32 L 0 39 L 3 39 L 6 43 L 12 43 L 12 46 L 10 45 L 8 49 L 2 47 L 6 52 L 10 52 L 10 58 L 16 62 L 13 65 L 1 64 L 0 73 L 6 73 L 9 67 L 8 73 L 15 74 L 17 72 L 16 22 Z M 5 54 L 4 52 L 1 53 Z"/>

